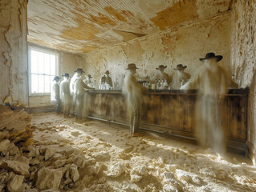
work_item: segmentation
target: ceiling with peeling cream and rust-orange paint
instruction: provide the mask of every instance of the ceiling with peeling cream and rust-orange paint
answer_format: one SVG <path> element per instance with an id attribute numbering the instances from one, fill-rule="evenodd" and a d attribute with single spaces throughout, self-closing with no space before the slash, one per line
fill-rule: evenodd
<path id="1" fill-rule="evenodd" d="M 207 18 L 230 0 L 30 0 L 28 41 L 87 53 Z"/>

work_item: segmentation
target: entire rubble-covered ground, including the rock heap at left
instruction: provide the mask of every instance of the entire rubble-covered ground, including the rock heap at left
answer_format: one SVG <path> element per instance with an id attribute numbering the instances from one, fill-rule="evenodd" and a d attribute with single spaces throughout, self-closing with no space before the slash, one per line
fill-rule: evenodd
<path id="1" fill-rule="evenodd" d="M 24 111 L 11 113 L 17 115 L 16 118 L 7 115 L 2 121 L 10 133 L 25 131 L 16 134 L 22 135 L 18 136 L 22 138 L 19 142 L 8 134 L 0 140 L 0 192 L 256 189 L 254 168 L 238 161 L 227 162 L 210 150 L 195 154 L 194 148 L 163 145 L 155 138 L 129 138 L 128 131 L 103 128 L 100 122 L 91 122 L 87 129 L 89 122 L 82 126 L 67 119 L 65 126 L 63 119 L 53 114 L 34 115 L 32 138 L 35 141 L 27 142 L 32 141 L 28 135 L 32 136 L 33 132 L 28 129 L 29 115 Z M 23 118 L 18 118 L 18 114 Z M 8 123 L 7 118 L 12 119 L 13 124 Z M 1 130 L 7 129 L 1 126 Z M 74 132 L 79 134 L 71 134 Z M 163 143 L 169 144 L 169 140 Z"/>

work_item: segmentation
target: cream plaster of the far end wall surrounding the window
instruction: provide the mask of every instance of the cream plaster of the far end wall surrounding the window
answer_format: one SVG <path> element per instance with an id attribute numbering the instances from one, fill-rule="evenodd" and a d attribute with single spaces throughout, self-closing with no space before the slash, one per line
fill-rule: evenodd
<path id="1" fill-rule="evenodd" d="M 37 46 L 35 44 L 30 44 L 30 46 L 36 46 L 39 48 L 51 50 L 49 48 L 43 46 Z M 82 67 L 82 57 L 79 54 L 71 54 L 59 50 L 51 50 L 55 51 L 59 54 L 59 69 L 58 75 L 61 77 L 62 74 L 68 73 L 71 76 L 74 74 L 76 68 Z M 41 96 L 30 96 L 29 97 L 29 106 L 30 107 L 38 107 L 38 106 L 51 106 L 53 103 L 51 102 L 50 95 L 41 95 Z"/>

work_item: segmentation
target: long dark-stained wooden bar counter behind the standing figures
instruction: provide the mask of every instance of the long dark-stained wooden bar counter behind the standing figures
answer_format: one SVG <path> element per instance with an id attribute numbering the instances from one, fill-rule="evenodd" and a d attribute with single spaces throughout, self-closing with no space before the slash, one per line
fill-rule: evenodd
<path id="1" fill-rule="evenodd" d="M 249 89 L 232 89 L 222 106 L 230 150 L 246 152 Z M 121 90 L 88 90 L 89 118 L 128 125 L 126 97 Z M 197 90 L 148 90 L 141 99 L 140 129 L 152 130 L 179 140 L 193 140 Z"/>

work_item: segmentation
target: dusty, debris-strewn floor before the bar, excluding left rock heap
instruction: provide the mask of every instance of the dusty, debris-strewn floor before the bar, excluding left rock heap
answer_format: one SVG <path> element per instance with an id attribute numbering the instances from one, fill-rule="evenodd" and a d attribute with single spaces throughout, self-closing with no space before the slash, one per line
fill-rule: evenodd
<path id="1" fill-rule="evenodd" d="M 221 158 L 188 143 L 154 134 L 134 138 L 116 125 L 54 113 L 32 114 L 32 125 L 36 146 L 73 148 L 90 159 L 95 173 L 80 177 L 91 181 L 71 191 L 256 191 L 256 169 L 235 154 Z"/>

